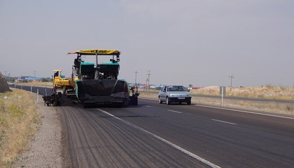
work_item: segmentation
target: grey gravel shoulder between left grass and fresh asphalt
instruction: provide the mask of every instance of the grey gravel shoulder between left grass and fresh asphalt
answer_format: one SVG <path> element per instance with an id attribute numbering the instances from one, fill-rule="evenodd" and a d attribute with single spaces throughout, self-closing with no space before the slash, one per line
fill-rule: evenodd
<path id="1" fill-rule="evenodd" d="M 28 142 L 30 150 L 20 154 L 13 168 L 66 168 L 68 152 L 63 134 L 62 121 L 55 106 L 44 106 L 42 96 L 35 97 L 37 110 L 41 114 L 41 122 L 35 137 Z"/>

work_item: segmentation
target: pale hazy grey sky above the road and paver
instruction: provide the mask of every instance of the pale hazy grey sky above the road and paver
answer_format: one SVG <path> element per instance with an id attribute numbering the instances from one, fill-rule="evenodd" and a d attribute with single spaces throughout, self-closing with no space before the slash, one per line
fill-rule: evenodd
<path id="1" fill-rule="evenodd" d="M 0 0 L 3 74 L 70 76 L 93 48 L 121 51 L 130 83 L 292 87 L 294 0 Z"/>

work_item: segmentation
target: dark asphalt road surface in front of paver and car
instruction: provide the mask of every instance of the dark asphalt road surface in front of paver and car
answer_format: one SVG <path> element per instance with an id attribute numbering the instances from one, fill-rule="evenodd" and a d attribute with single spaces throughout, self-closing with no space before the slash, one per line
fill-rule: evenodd
<path id="1" fill-rule="evenodd" d="M 139 99 L 58 107 L 73 168 L 293 168 L 294 117 Z"/>

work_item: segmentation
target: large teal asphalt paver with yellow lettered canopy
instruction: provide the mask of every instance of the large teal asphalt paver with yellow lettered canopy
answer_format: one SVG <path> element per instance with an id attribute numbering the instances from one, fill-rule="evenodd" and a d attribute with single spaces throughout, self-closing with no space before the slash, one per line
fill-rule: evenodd
<path id="1" fill-rule="evenodd" d="M 68 54 L 76 54 L 73 75 L 75 86 L 66 90 L 67 95 L 75 96 L 83 107 L 87 105 L 138 105 L 139 94 L 131 95 L 128 83 L 118 79 L 120 70 L 120 54 L 118 50 L 91 49 L 79 50 Z M 98 56 L 112 56 L 109 63 L 98 63 Z M 85 63 L 82 56 L 96 56 L 96 63 Z M 135 103 L 133 102 L 135 101 Z"/>

